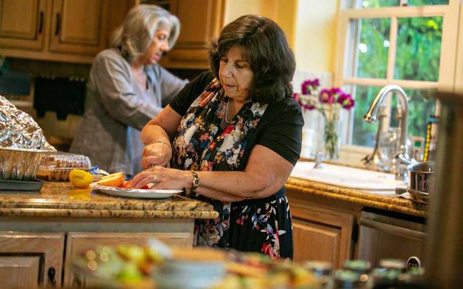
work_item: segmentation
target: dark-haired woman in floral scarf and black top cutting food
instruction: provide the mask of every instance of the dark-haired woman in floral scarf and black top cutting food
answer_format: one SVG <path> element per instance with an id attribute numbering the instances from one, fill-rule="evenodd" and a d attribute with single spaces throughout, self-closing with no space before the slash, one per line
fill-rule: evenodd
<path id="1" fill-rule="evenodd" d="M 196 245 L 292 258 L 284 183 L 304 124 L 292 98 L 293 52 L 281 28 L 256 15 L 227 24 L 209 50 L 212 72 L 188 83 L 143 128 L 142 165 L 150 168 L 132 185 L 185 188 L 212 204 L 219 218 L 196 220 Z"/>

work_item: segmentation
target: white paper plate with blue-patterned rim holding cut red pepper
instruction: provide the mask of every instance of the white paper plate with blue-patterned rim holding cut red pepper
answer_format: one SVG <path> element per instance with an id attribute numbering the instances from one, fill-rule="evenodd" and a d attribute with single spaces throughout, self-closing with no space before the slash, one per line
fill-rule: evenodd
<path id="1" fill-rule="evenodd" d="M 175 193 L 181 193 L 182 190 L 143 190 L 143 189 L 129 189 L 129 188 L 116 188 L 98 185 L 96 182 L 91 183 L 90 186 L 94 190 L 99 190 L 102 193 L 121 197 L 132 198 L 168 198 Z"/>

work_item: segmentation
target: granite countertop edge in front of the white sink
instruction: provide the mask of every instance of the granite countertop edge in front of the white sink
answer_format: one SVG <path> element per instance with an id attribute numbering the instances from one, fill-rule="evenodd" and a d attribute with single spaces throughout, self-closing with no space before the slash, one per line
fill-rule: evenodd
<path id="1" fill-rule="evenodd" d="M 286 189 L 298 190 L 307 194 L 324 196 L 364 207 L 404 213 L 419 217 L 427 217 L 428 205 L 395 196 L 395 191 L 363 191 L 326 185 L 322 183 L 291 177 L 287 180 Z"/>

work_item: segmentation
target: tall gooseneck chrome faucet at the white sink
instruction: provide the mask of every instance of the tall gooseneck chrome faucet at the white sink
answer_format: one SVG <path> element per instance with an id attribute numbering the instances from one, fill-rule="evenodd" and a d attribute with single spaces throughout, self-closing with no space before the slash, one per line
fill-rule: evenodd
<path id="1" fill-rule="evenodd" d="M 406 180 L 407 168 L 401 166 L 401 164 L 411 164 L 414 162 L 414 160 L 409 159 L 406 146 L 409 124 L 409 101 L 407 99 L 407 94 L 398 85 L 389 84 L 384 86 L 384 88 L 382 88 L 378 95 L 374 98 L 370 109 L 368 109 L 367 113 L 363 117 L 363 120 L 374 124 L 376 122 L 378 109 L 380 108 L 381 103 L 383 102 L 386 95 L 392 91 L 397 92 L 397 95 L 399 96 L 400 105 L 402 106 L 402 119 L 400 122 L 400 147 L 398 154 L 395 156 L 395 163 L 391 165 L 391 172 L 395 174 L 396 180 Z M 378 146 L 378 137 L 376 146 Z"/>

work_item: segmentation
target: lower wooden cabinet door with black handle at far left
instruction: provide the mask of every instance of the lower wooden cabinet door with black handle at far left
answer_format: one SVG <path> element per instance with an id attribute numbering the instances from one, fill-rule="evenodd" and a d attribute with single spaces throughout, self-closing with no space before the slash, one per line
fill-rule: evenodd
<path id="1" fill-rule="evenodd" d="M 0 232 L 2 288 L 61 287 L 64 234 Z"/>

